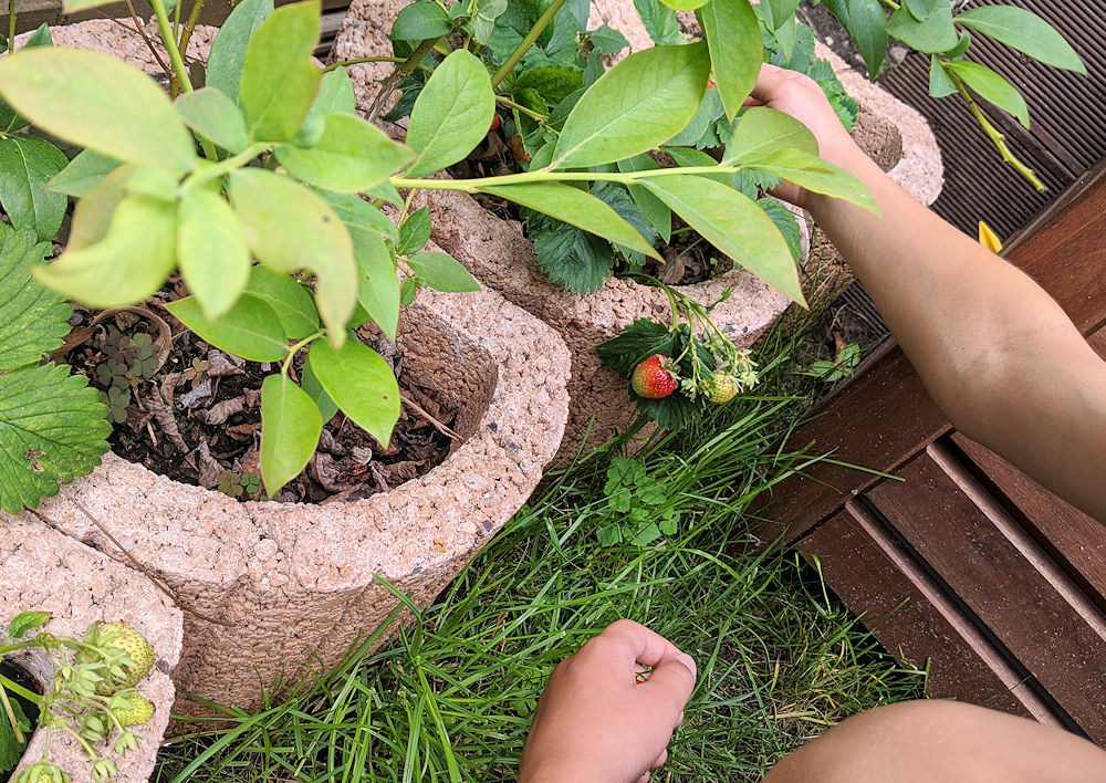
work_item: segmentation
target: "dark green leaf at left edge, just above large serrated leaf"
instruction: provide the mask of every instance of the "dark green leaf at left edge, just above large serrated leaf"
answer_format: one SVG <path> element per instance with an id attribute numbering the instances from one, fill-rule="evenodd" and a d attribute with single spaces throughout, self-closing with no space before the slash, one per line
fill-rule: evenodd
<path id="1" fill-rule="evenodd" d="M 54 238 L 69 199 L 43 187 L 67 165 L 64 153 L 43 138 L 0 137 L 0 206 L 12 226 L 33 229 L 40 239 Z"/>

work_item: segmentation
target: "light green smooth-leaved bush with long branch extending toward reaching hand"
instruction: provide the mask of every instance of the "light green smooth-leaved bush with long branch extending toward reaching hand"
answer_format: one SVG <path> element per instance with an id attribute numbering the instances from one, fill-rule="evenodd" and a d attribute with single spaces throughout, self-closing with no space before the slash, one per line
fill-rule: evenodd
<path id="1" fill-rule="evenodd" d="M 190 291 L 167 304 L 178 321 L 227 353 L 274 367 L 261 390 L 261 474 L 270 495 L 310 460 L 323 411 L 341 409 L 388 443 L 400 410 L 395 376 L 349 330 L 373 321 L 395 337 L 399 307 L 420 285 L 478 288 L 457 261 L 424 250 L 428 215 L 405 208 L 415 190 L 491 194 L 658 258 L 650 237 L 595 195 L 601 186 L 625 188 L 630 199 L 679 215 L 801 302 L 786 240 L 732 187 L 732 177 L 787 177 L 873 208 L 858 180 L 817 158 L 805 128 L 770 109 L 749 111 L 721 163 L 677 169 L 634 163 L 687 127 L 712 71 L 726 116 L 737 118 L 762 60 L 748 2 L 711 0 L 700 9 L 706 41 L 639 52 L 606 73 L 596 53 L 620 43 L 594 31 L 581 86 L 545 123 L 497 90 L 525 58 L 541 60 L 532 54 L 534 42 L 562 41 L 550 23 L 564 6 L 462 2 L 446 11 L 418 3 L 406 12 L 400 29 L 408 30 L 403 35 L 411 53 L 400 75 L 424 73 L 427 56 L 458 36 L 486 38 L 510 53 L 494 73 L 463 48 L 436 63 L 411 102 L 405 145 L 354 113 L 342 66 L 321 71 L 312 63 L 316 0 L 279 10 L 271 0 L 239 3 L 212 43 L 206 86 L 198 90 L 164 1 L 153 0 L 180 91 L 176 101 L 106 55 L 24 48 L 0 62 L 0 96 L 36 128 L 83 148 L 46 186 L 77 201 L 65 251 L 35 268 L 35 276 L 64 296 L 112 309 L 157 293 L 178 272 Z M 582 15 L 582 7 L 571 8 Z M 573 58 L 583 56 L 574 27 L 560 35 Z M 556 49 L 543 51 L 552 60 Z M 535 64 L 514 97 L 536 93 L 552 101 L 574 87 L 560 66 Z M 528 87 L 533 92 L 524 95 Z M 542 133 L 549 132 L 529 170 L 432 178 L 481 143 L 497 105 L 512 109 L 512 122 L 514 112 L 539 115 Z M 398 229 L 380 211 L 388 202 L 401 208 Z M 296 377 L 293 358 L 301 355 Z"/>

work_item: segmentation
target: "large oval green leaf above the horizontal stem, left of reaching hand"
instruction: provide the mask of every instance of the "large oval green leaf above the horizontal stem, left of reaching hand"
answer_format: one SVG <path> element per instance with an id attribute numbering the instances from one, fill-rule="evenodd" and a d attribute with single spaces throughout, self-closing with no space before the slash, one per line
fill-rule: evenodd
<path id="1" fill-rule="evenodd" d="M 598 166 L 664 144 L 699 111 L 709 72 L 703 43 L 630 54 L 576 102 L 561 132 L 553 167 Z"/>

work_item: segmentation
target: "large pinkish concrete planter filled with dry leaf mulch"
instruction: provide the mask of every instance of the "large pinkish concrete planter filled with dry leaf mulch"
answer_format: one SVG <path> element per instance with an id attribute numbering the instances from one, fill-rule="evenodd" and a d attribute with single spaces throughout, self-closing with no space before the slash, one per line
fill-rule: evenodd
<path id="1" fill-rule="evenodd" d="M 425 291 L 397 348 L 409 377 L 459 408 L 462 440 L 390 492 L 241 503 L 108 455 L 43 504 L 63 532 L 118 555 L 69 499 L 80 502 L 178 597 L 180 689 L 249 710 L 262 687 L 302 677 L 309 656 L 333 666 L 397 606 L 377 577 L 429 605 L 538 486 L 567 416 L 568 352 L 553 330 L 492 292 Z"/>

